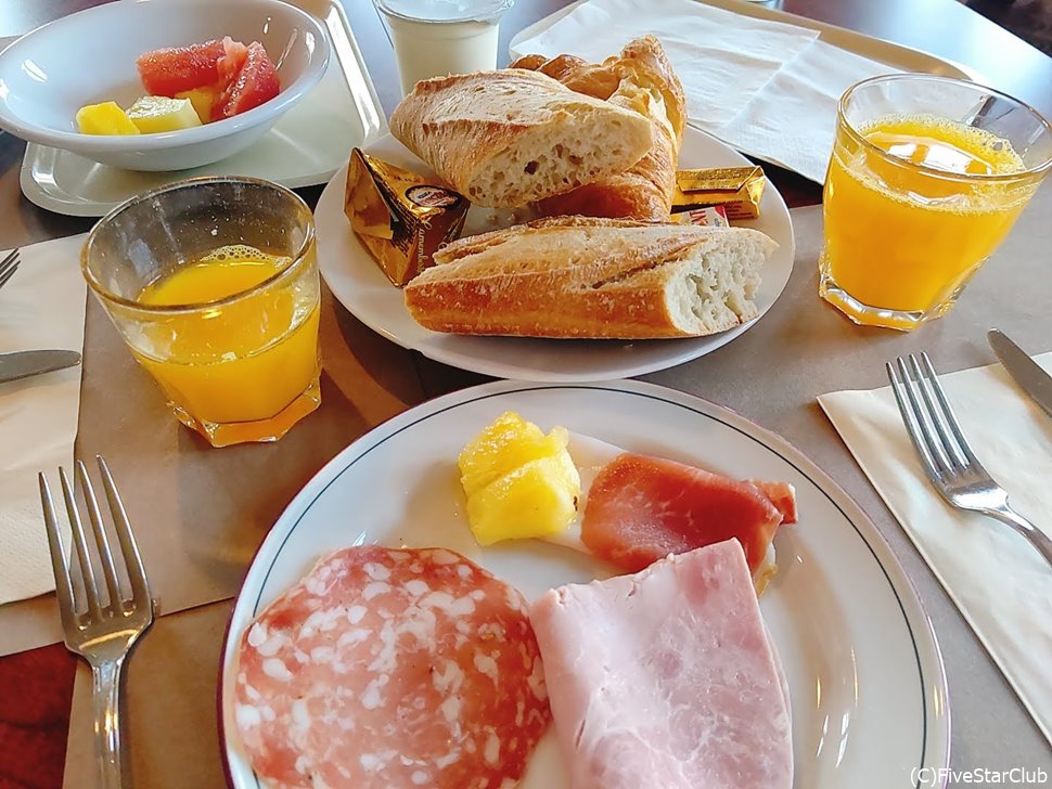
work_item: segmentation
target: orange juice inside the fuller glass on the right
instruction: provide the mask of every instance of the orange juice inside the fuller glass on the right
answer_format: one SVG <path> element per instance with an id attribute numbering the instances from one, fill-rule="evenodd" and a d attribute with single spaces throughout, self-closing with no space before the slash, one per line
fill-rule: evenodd
<path id="1" fill-rule="evenodd" d="M 1012 145 L 934 115 L 843 128 L 825 180 L 822 295 L 859 323 L 941 314 L 1004 238 L 1035 183 Z M 985 177 L 985 178 L 984 178 Z"/>

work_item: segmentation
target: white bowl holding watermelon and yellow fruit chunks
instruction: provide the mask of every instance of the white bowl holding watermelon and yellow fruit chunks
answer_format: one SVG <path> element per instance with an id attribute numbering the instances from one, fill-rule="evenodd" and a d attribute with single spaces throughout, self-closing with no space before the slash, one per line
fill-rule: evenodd
<path id="1" fill-rule="evenodd" d="M 264 44 L 281 92 L 232 118 L 157 134 L 77 131 L 85 104 L 129 106 L 145 90 L 136 59 L 230 36 Z M 325 73 L 329 38 L 280 0 L 119 0 L 38 27 L 0 52 L 0 128 L 129 170 L 182 170 L 226 158 L 262 137 Z M 249 173 L 251 174 L 251 173 Z"/>

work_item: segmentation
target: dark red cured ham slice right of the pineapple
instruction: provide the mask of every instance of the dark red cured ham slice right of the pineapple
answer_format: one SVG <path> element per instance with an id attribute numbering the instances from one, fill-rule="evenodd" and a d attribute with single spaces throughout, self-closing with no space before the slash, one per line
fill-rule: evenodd
<path id="1" fill-rule="evenodd" d="M 795 519 L 795 500 L 793 509 Z M 581 542 L 634 572 L 668 554 L 735 538 L 755 572 L 781 522 L 779 507 L 752 482 L 625 452 L 588 489 Z"/>

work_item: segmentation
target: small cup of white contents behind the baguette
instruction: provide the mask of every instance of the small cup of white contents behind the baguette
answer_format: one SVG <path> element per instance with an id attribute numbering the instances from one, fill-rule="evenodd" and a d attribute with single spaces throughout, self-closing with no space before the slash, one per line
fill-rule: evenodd
<path id="1" fill-rule="evenodd" d="M 398 62 L 402 94 L 421 79 L 497 68 L 500 17 L 514 0 L 373 0 Z"/>

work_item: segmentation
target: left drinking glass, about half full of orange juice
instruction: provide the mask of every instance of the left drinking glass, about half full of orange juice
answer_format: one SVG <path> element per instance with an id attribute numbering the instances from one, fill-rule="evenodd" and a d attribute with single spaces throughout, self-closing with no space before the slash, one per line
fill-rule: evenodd
<path id="1" fill-rule="evenodd" d="M 315 225 L 293 192 L 180 181 L 100 220 L 81 266 L 176 416 L 214 447 L 275 441 L 321 402 Z"/>

